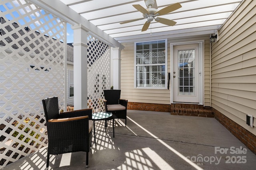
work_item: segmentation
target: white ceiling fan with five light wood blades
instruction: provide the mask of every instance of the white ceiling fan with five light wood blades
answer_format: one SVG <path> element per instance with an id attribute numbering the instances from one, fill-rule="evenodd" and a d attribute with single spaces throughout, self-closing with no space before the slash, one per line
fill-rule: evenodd
<path id="1" fill-rule="evenodd" d="M 176 24 L 175 21 L 168 20 L 168 19 L 165 19 L 165 18 L 160 18 L 158 16 L 168 14 L 168 13 L 170 13 L 172 11 L 175 11 L 175 10 L 182 7 L 180 5 L 180 3 L 175 3 L 175 4 L 171 4 L 171 5 L 163 8 L 162 10 L 158 11 L 157 10 L 158 7 L 156 5 L 156 0 L 145 0 L 145 4 L 148 7 L 147 9 L 143 8 L 141 5 L 132 5 L 134 8 L 136 8 L 136 10 L 138 10 L 139 12 L 141 12 L 143 14 L 143 18 L 124 21 L 124 22 L 121 22 L 120 24 L 147 19 L 147 21 L 144 23 L 141 31 L 146 31 L 148 29 L 149 25 L 150 25 L 150 22 L 153 21 L 153 20 L 155 20 L 157 22 L 160 22 L 160 23 L 163 23 L 165 25 L 173 26 L 173 25 Z"/>

